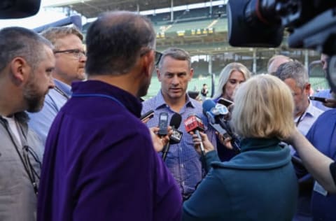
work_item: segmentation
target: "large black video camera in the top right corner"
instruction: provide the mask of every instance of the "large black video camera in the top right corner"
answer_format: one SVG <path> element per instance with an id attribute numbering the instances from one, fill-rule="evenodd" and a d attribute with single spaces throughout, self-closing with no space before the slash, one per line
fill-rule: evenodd
<path id="1" fill-rule="evenodd" d="M 229 0 L 228 38 L 237 47 L 278 47 L 288 31 L 290 48 L 330 56 L 327 80 L 336 92 L 336 1 Z"/>

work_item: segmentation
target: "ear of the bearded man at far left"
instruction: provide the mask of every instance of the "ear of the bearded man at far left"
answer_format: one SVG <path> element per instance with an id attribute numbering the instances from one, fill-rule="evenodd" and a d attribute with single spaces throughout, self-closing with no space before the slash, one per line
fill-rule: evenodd
<path id="1" fill-rule="evenodd" d="M 15 57 L 10 62 L 10 73 L 15 83 L 20 84 L 24 82 L 28 77 L 29 69 L 29 65 L 22 57 Z"/>

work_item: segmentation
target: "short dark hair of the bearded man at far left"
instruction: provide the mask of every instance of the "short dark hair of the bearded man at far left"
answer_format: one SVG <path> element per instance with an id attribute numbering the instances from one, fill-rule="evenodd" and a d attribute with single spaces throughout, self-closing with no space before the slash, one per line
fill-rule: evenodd
<path id="1" fill-rule="evenodd" d="M 34 70 L 45 58 L 43 46 L 52 44 L 39 34 L 23 27 L 0 29 L 0 71 L 15 57 L 23 57 Z"/>

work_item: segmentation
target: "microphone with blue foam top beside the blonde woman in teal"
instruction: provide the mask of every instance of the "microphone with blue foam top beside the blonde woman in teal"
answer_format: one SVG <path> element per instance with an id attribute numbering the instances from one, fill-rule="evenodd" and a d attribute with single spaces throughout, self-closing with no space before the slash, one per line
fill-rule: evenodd
<path id="1" fill-rule="evenodd" d="M 214 101 L 208 99 L 202 104 L 203 114 L 207 116 L 209 124 L 214 128 L 218 134 L 223 135 L 224 138 L 231 138 L 231 145 L 237 152 L 240 152 L 239 139 L 237 135 L 233 133 L 230 125 L 224 120 L 225 115 L 229 113 L 229 110 L 223 104 L 216 104 Z"/>

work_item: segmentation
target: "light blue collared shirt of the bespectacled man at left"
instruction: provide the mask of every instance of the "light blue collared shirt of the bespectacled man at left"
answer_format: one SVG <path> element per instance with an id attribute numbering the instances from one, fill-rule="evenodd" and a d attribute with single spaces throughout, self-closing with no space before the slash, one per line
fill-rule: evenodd
<path id="1" fill-rule="evenodd" d="M 64 106 L 68 98 L 71 96 L 71 87 L 54 78 L 55 88 L 49 90 L 45 96 L 42 110 L 37 113 L 28 113 L 29 127 L 36 132 L 38 137 L 45 144 L 48 131 L 59 110 Z M 68 97 L 68 98 L 67 98 Z"/>

